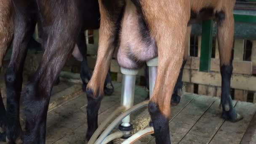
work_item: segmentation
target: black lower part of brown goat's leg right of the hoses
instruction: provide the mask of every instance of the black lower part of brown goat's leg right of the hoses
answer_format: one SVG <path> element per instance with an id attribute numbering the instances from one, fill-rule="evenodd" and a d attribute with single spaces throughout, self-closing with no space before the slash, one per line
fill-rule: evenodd
<path id="1" fill-rule="evenodd" d="M 169 120 L 161 114 L 157 104 L 149 102 L 149 114 L 154 127 L 156 144 L 171 144 Z"/>

